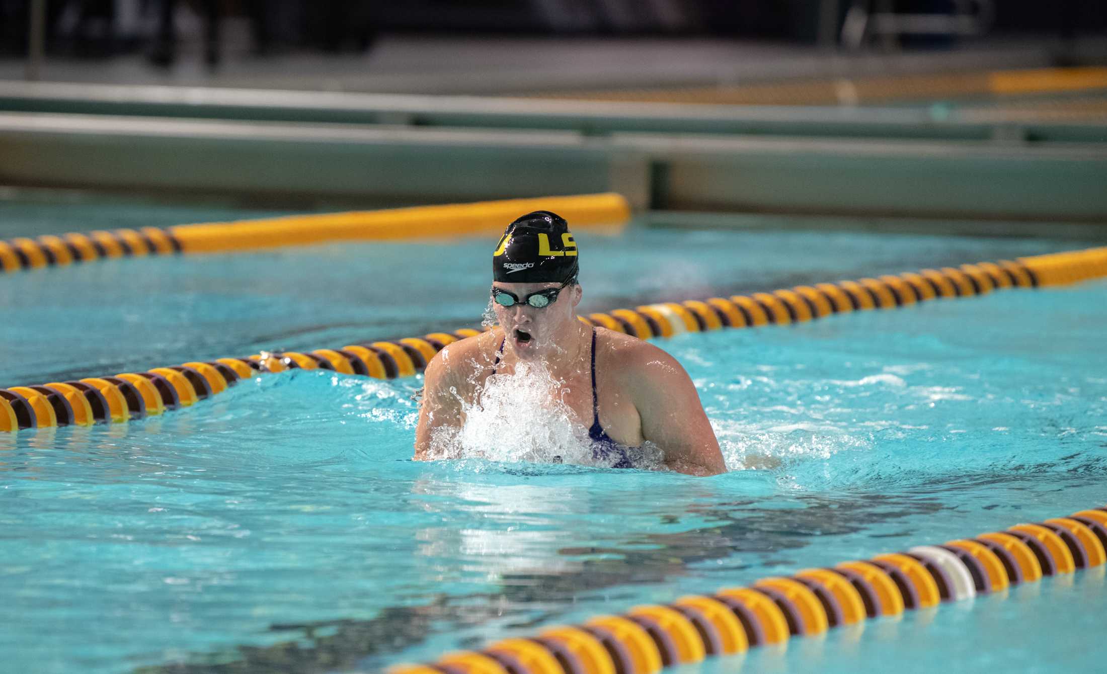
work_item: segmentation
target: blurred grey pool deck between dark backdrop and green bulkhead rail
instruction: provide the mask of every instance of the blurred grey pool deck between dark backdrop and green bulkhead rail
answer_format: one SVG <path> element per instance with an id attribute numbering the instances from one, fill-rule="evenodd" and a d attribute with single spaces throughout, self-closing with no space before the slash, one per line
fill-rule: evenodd
<path id="1" fill-rule="evenodd" d="M 364 54 L 290 52 L 259 58 L 232 40 L 208 69 L 196 41 L 177 62 L 155 68 L 131 54 L 103 60 L 48 58 L 42 80 L 415 94 L 525 94 L 643 86 L 733 86 L 795 79 L 860 77 L 1048 68 L 1065 55 L 1107 63 L 1107 41 L 1068 45 L 1049 37 L 965 40 L 949 49 L 859 53 L 814 44 L 682 38 L 384 35 Z M 22 80 L 24 63 L 0 61 L 0 80 Z"/>

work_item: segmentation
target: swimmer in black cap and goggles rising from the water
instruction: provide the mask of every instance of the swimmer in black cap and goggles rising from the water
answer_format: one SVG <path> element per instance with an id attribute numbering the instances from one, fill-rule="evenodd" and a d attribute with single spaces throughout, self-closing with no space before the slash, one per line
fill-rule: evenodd
<path id="1" fill-rule="evenodd" d="M 669 469 L 725 471 L 700 396 L 676 359 L 649 342 L 577 319 L 582 295 L 577 253 L 568 224 L 552 212 L 535 211 L 507 227 L 493 252 L 498 325 L 447 345 L 427 364 L 415 459 L 446 454 L 436 440 L 464 426 L 465 408 L 478 402 L 488 377 L 514 375 L 526 363 L 540 365 L 558 383 L 551 397 L 560 396 L 588 428 L 594 458 L 630 468 L 634 453 L 628 448 L 650 442 Z"/>

